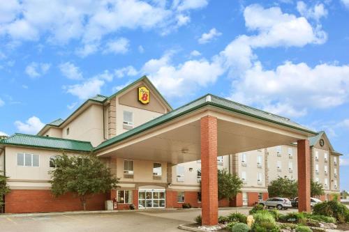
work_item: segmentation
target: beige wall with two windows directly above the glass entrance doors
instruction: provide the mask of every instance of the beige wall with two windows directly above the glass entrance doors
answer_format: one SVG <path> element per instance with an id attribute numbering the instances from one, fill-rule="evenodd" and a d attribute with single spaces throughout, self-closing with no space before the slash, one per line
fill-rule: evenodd
<path id="1" fill-rule="evenodd" d="M 133 160 L 133 178 L 124 178 L 124 160 L 117 158 L 117 178 L 120 178 L 120 182 L 126 183 L 167 183 L 167 163 L 161 163 L 162 176 L 161 180 L 153 179 L 153 164 L 156 161 L 147 160 Z"/>

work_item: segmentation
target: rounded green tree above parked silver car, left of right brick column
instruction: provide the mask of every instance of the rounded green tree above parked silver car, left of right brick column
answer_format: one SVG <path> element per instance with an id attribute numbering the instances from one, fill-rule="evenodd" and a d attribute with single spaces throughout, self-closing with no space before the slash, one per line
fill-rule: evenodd
<path id="1" fill-rule="evenodd" d="M 298 195 L 297 181 L 285 177 L 279 177 L 268 186 L 268 192 L 270 197 L 279 196 L 288 199 L 293 199 Z"/>

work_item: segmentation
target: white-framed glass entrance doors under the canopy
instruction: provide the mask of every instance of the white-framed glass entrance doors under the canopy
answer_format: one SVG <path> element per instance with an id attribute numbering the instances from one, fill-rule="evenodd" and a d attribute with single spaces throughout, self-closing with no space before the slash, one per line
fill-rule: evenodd
<path id="1" fill-rule="evenodd" d="M 138 208 L 165 208 L 165 190 L 138 190 Z"/>

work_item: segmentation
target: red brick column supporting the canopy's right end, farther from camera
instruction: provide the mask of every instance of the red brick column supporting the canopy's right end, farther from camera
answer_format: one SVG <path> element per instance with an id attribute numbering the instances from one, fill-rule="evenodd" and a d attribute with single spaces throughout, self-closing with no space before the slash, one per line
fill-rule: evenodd
<path id="1" fill-rule="evenodd" d="M 298 163 L 298 211 L 311 212 L 310 207 L 310 179 L 311 179 L 311 155 L 309 140 L 297 141 Z"/>

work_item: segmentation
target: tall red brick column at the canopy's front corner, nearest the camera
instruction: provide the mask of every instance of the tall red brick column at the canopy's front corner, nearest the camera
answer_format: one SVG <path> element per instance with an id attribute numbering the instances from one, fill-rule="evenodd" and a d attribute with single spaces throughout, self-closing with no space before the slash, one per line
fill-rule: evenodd
<path id="1" fill-rule="evenodd" d="M 202 225 L 218 224 L 217 118 L 205 116 L 201 130 Z"/>

